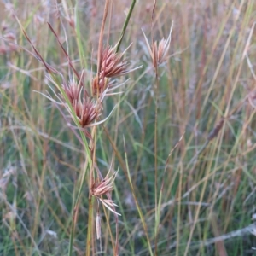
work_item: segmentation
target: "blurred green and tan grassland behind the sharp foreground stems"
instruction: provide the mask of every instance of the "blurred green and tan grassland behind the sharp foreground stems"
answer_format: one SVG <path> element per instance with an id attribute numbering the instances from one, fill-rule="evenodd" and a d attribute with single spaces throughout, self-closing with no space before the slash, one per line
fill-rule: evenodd
<path id="1" fill-rule="evenodd" d="M 78 70 L 96 71 L 104 1 L 2 1 L 0 3 L 0 255 L 67 255 L 73 191 L 84 151 L 55 105 L 35 91 L 49 90 L 43 65 L 12 15 L 41 55 L 68 80 L 67 60 L 48 21 Z M 113 0 L 104 44 L 116 44 L 131 1 Z M 127 76 L 123 96 L 108 97 L 99 126 L 97 161 L 107 173 L 114 154 L 119 175 L 119 255 L 149 255 L 142 220 L 125 175 L 125 137 L 131 180 L 157 255 L 256 255 L 253 224 L 256 190 L 256 21 L 254 0 L 158 1 L 154 38 L 167 37 L 170 55 L 160 67 L 154 153 L 154 72 L 143 38 L 150 38 L 153 1 L 137 1 L 121 49 L 143 68 Z M 75 30 L 71 26 L 75 21 Z M 61 23 L 62 22 L 62 23 Z M 108 38 L 109 30 L 109 38 Z M 13 34 L 13 46 L 3 38 Z M 80 35 L 80 38 L 79 38 Z M 67 37 L 67 40 L 65 39 Z M 82 49 L 79 49 L 82 45 Z M 81 53 L 84 53 L 81 55 Z M 89 86 L 89 82 L 87 83 Z M 207 143 L 211 131 L 220 131 Z M 183 132 L 185 134 L 183 135 Z M 183 139 L 166 160 L 180 137 Z M 204 145 L 207 146 L 201 152 Z M 201 152 L 201 154 L 198 154 Z M 158 159 L 155 191 L 154 159 Z M 166 167 L 166 172 L 164 172 Z M 160 231 L 154 240 L 154 198 L 164 183 Z M 74 255 L 84 255 L 88 186 L 79 207 Z M 103 212 L 103 211 L 102 211 Z M 113 255 L 102 216 L 102 250 Z M 108 214 L 114 233 L 113 215 Z M 236 233 L 230 233 L 236 231 Z M 215 240 L 214 240 L 215 238 Z M 98 252 L 98 253 L 97 253 Z"/>

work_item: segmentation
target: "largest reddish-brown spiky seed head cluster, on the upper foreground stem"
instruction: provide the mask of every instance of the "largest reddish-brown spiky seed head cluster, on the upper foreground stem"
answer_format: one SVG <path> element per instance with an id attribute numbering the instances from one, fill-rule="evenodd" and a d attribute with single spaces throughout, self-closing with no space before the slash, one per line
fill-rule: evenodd
<path id="1" fill-rule="evenodd" d="M 125 51 L 127 49 L 125 49 Z M 113 84 L 115 84 L 115 80 L 113 79 L 131 73 L 139 68 L 129 68 L 129 61 L 123 60 L 125 51 L 118 54 L 116 48 L 111 46 L 102 50 L 98 73 L 96 73 L 96 76 L 91 82 L 91 96 L 81 81 L 79 81 L 79 84 L 74 80 L 68 84 L 62 84 L 62 89 L 67 96 L 66 99 L 68 99 L 70 103 L 67 104 L 66 102 L 65 106 L 67 106 L 69 113 L 75 113 L 81 128 L 86 129 L 98 124 L 97 120 L 102 113 L 102 102 L 104 97 L 110 95 L 109 91 L 119 87 L 119 85 L 113 86 Z M 65 99 L 65 96 L 62 96 L 62 98 Z M 70 107 L 73 108 L 73 111 Z M 85 134 L 88 135 L 89 133 L 85 132 Z"/>

